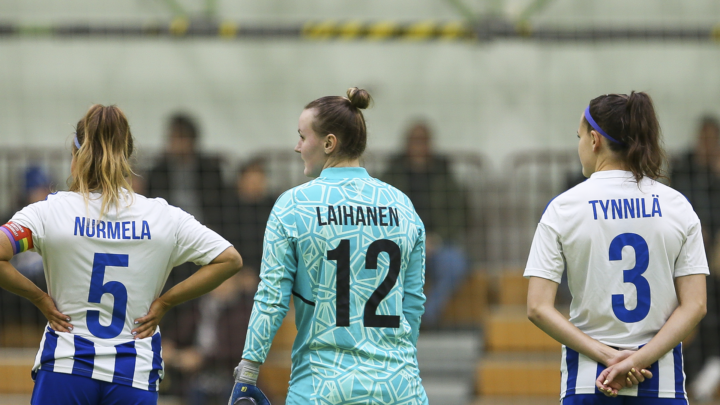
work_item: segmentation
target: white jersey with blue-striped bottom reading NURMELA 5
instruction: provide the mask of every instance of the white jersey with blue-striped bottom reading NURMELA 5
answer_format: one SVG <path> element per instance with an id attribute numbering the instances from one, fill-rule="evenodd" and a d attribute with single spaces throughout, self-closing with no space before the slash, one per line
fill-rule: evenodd
<path id="1" fill-rule="evenodd" d="M 134 340 L 170 270 L 205 265 L 230 243 L 165 200 L 134 195 L 130 207 L 102 219 L 99 194 L 59 192 L 27 206 L 11 222 L 32 231 L 48 293 L 71 317 L 72 333 L 48 327 L 33 366 L 156 391 L 163 377 L 159 328 Z"/>

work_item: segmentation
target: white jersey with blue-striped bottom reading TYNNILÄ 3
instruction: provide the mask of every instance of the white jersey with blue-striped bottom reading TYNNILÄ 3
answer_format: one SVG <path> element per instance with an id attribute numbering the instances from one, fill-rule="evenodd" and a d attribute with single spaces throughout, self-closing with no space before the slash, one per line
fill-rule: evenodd
<path id="1" fill-rule="evenodd" d="M 545 209 L 525 277 L 559 283 L 566 270 L 570 322 L 630 350 L 649 342 L 677 308 L 675 278 L 709 274 L 700 221 L 687 199 L 620 170 L 594 173 Z M 570 348 L 563 354 L 563 397 L 594 393 L 604 366 Z M 620 395 L 685 397 L 680 346 L 651 369 L 654 378 Z"/>

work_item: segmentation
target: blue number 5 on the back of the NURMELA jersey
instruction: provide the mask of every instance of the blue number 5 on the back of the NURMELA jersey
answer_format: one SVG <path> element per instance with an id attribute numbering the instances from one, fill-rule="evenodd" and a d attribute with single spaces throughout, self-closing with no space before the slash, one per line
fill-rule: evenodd
<path id="1" fill-rule="evenodd" d="M 127 288 L 119 281 L 105 280 L 105 268 L 127 267 L 128 255 L 118 255 L 112 253 L 95 253 L 93 259 L 93 272 L 90 277 L 90 294 L 88 302 L 99 304 L 104 294 L 112 294 L 114 298 L 112 321 L 108 326 L 100 324 L 100 311 L 88 310 L 87 326 L 90 333 L 102 338 L 112 339 L 117 337 L 125 325 L 125 313 L 127 312 Z"/>

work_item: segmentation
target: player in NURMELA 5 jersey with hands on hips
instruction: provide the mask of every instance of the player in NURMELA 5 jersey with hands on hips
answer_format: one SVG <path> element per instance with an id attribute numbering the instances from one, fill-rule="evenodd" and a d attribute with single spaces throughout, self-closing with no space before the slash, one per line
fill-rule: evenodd
<path id="1" fill-rule="evenodd" d="M 133 193 L 133 138 L 119 108 L 90 107 L 76 131 L 70 191 L 0 228 L 0 286 L 49 321 L 31 403 L 156 404 L 160 319 L 235 274 L 242 260 L 189 214 Z M 8 263 L 28 249 L 43 257 L 48 294 Z M 203 267 L 158 298 L 170 270 L 186 261 Z"/>

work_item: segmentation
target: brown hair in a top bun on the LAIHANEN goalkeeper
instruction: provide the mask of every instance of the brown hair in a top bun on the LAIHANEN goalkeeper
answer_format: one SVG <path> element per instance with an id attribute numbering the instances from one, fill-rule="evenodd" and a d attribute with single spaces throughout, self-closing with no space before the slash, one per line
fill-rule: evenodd
<path id="1" fill-rule="evenodd" d="M 315 110 L 313 131 L 319 136 L 333 134 L 338 138 L 337 156 L 359 158 L 367 145 L 367 128 L 362 111 L 370 105 L 370 93 L 357 87 L 347 97 L 327 96 L 310 102 L 305 109 Z"/>

